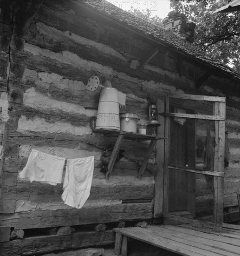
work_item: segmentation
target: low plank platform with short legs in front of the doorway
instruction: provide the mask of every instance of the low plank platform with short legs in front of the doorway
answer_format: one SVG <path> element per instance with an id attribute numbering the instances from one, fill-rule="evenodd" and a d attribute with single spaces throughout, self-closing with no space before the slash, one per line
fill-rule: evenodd
<path id="1" fill-rule="evenodd" d="M 239 233 L 204 233 L 182 226 L 116 228 L 115 254 L 127 256 L 128 237 L 184 256 L 239 256 Z M 206 231 L 206 230 L 205 230 Z"/>

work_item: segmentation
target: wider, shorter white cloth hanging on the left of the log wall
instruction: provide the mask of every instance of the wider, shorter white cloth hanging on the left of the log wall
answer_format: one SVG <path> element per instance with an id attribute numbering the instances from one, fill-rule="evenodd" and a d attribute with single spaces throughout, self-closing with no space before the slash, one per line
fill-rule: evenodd
<path id="1" fill-rule="evenodd" d="M 64 164 L 65 158 L 32 149 L 19 177 L 30 182 L 37 181 L 56 186 L 62 182 Z"/>

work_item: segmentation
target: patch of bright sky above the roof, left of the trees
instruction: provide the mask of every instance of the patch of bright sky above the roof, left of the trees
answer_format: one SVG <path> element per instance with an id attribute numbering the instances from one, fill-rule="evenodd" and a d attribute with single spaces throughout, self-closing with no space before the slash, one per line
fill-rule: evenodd
<path id="1" fill-rule="evenodd" d="M 152 12 L 152 16 L 159 16 L 164 19 L 168 16 L 170 9 L 169 0 L 107 0 L 111 4 L 122 8 L 124 11 L 130 10 L 131 6 L 134 9 L 140 11 L 149 9 Z"/>

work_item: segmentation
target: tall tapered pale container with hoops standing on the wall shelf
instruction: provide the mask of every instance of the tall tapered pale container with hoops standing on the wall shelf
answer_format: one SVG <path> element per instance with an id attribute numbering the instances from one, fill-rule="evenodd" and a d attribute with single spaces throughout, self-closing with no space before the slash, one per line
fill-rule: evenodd
<path id="1" fill-rule="evenodd" d="M 120 130 L 118 94 L 115 88 L 103 88 L 100 92 L 96 129 Z"/>

